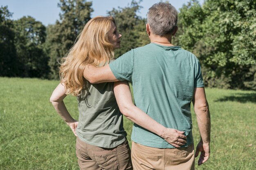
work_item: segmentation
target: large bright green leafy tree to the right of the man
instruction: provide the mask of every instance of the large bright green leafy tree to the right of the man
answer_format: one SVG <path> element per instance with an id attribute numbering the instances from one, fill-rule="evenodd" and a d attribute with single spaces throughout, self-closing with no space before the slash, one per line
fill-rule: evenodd
<path id="1" fill-rule="evenodd" d="M 255 0 L 193 0 L 180 9 L 179 43 L 199 57 L 206 85 L 256 89 L 255 23 Z"/>

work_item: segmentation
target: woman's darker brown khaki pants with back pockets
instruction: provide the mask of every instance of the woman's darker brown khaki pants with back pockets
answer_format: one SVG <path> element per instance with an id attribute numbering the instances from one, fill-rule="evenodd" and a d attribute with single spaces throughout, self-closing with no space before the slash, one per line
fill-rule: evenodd
<path id="1" fill-rule="evenodd" d="M 76 139 L 80 170 L 132 170 L 128 141 L 115 148 L 100 148 Z"/>

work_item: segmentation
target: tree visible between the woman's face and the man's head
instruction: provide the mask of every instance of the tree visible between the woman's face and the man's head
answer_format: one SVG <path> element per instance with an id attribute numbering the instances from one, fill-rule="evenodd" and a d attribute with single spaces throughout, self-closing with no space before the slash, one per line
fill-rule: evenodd
<path id="1" fill-rule="evenodd" d="M 128 7 L 113 8 L 108 12 L 108 15 L 115 18 L 117 29 L 122 34 L 121 48 L 115 50 L 116 57 L 150 42 L 146 33 L 146 20 L 137 15 L 141 9 L 140 2 L 132 0 Z"/>

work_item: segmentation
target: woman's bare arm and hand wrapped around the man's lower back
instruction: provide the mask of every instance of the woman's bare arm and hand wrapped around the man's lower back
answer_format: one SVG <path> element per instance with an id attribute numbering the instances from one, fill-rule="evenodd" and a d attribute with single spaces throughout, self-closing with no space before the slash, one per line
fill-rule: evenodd
<path id="1" fill-rule="evenodd" d="M 157 134 L 176 148 L 186 144 L 184 132 L 162 126 L 132 103 L 128 82 L 114 82 L 114 93 L 121 113 L 135 124 Z"/>

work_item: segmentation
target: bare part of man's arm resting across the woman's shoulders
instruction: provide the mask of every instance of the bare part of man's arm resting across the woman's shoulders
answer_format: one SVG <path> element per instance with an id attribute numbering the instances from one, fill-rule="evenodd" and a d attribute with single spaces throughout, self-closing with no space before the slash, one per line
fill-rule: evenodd
<path id="1" fill-rule="evenodd" d="M 103 67 L 87 65 L 83 70 L 83 77 L 91 84 L 118 81 L 112 73 L 109 64 Z"/>

